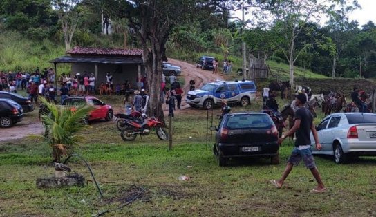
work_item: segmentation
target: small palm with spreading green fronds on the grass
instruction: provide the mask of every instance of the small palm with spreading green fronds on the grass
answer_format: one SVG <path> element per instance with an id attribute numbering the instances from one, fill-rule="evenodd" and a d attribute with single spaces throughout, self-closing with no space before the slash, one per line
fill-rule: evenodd
<path id="1" fill-rule="evenodd" d="M 88 116 L 92 110 L 89 106 L 77 106 L 74 111 L 71 108 L 57 106 L 47 102 L 44 97 L 39 97 L 40 102 L 46 108 L 41 112 L 41 120 L 46 127 L 44 138 L 53 148 L 53 162 L 60 162 L 61 155 L 66 155 L 73 151 L 73 147 L 82 142 L 83 136 L 77 135 L 79 131 L 90 127 L 82 120 Z"/>

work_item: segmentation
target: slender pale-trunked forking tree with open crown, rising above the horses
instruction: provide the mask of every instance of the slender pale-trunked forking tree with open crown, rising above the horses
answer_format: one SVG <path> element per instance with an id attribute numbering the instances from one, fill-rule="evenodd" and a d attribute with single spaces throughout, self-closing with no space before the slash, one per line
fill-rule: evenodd
<path id="1" fill-rule="evenodd" d="M 269 0 L 265 10 L 274 18 L 276 30 L 281 38 L 278 46 L 290 65 L 290 85 L 294 86 L 294 63 L 311 43 L 297 49 L 297 38 L 307 28 L 307 23 L 316 22 L 326 15 L 338 2 L 344 0 Z"/>

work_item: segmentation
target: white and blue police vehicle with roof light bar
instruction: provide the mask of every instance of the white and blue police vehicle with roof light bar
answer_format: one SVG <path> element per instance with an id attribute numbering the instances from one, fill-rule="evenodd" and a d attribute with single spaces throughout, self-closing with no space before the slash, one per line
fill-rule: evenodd
<path id="1" fill-rule="evenodd" d="M 187 93 L 186 102 L 194 108 L 212 109 L 226 100 L 227 104 L 247 106 L 256 99 L 256 85 L 252 81 L 216 81 L 207 83 L 198 90 Z"/>

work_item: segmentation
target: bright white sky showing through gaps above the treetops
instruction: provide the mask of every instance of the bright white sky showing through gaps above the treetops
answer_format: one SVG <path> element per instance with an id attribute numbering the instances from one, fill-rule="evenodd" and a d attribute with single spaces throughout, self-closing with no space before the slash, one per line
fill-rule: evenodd
<path id="1" fill-rule="evenodd" d="M 359 23 L 359 28 L 363 26 L 364 24 L 368 23 L 368 21 L 373 21 L 373 23 L 376 24 L 376 0 L 357 0 L 359 5 L 361 6 L 361 9 L 354 10 L 351 12 L 348 17 L 351 20 L 357 20 Z M 241 19 L 241 10 L 237 10 L 234 12 L 234 17 L 238 17 Z M 247 17 L 250 17 L 250 15 L 245 15 L 245 19 Z M 323 23 L 321 25 L 324 25 L 326 22 L 326 19 L 322 20 Z M 249 28 L 252 28 L 248 25 Z"/>

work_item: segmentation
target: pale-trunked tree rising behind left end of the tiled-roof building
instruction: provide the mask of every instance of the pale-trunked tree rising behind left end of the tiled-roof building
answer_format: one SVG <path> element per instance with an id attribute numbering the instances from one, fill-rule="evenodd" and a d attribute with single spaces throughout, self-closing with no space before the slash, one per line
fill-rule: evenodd
<path id="1" fill-rule="evenodd" d="M 62 25 L 66 50 L 71 49 L 73 35 L 84 12 L 84 7 L 79 5 L 80 2 L 81 0 L 52 0 L 52 6 L 57 11 Z"/>

